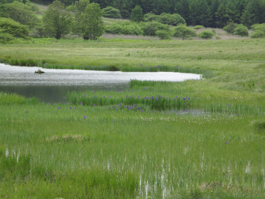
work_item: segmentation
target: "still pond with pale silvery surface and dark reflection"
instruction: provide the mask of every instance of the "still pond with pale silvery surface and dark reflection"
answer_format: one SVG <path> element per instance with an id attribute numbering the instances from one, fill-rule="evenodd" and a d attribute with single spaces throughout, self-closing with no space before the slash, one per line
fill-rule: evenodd
<path id="1" fill-rule="evenodd" d="M 38 69 L 45 73 L 35 74 Z M 190 73 L 85 71 L 0 64 L 0 91 L 44 102 L 65 102 L 71 91 L 128 89 L 130 80 L 181 82 L 200 78 L 201 75 Z"/>

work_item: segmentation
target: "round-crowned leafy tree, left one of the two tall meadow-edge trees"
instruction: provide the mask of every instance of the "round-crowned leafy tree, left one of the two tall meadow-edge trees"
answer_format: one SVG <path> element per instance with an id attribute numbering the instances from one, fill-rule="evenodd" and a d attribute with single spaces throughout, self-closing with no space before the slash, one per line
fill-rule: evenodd
<path id="1" fill-rule="evenodd" d="M 72 16 L 65 9 L 65 4 L 59 0 L 53 1 L 43 15 L 43 24 L 48 34 L 61 39 L 70 30 Z"/>

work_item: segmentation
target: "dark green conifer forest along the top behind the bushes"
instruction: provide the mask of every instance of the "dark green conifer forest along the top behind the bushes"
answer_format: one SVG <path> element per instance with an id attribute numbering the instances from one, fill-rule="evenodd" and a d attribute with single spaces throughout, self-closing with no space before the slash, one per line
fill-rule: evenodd
<path id="1" fill-rule="evenodd" d="M 8 1 L 8 0 L 4 0 Z M 53 0 L 33 0 L 50 4 Z M 61 0 L 66 5 L 75 0 Z M 223 27 L 229 19 L 248 27 L 265 22 L 265 0 L 90 0 L 101 8 L 113 6 L 120 10 L 122 18 L 129 18 L 132 9 L 140 5 L 143 13 L 178 13 L 187 25 Z"/>

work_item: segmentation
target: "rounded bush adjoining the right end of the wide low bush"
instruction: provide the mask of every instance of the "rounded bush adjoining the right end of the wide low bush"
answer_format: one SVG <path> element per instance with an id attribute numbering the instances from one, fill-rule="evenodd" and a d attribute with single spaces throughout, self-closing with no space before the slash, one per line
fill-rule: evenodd
<path id="1" fill-rule="evenodd" d="M 157 30 L 165 30 L 168 32 L 170 31 L 169 25 L 157 21 L 144 22 L 142 26 L 143 26 L 144 35 L 155 36 Z"/>

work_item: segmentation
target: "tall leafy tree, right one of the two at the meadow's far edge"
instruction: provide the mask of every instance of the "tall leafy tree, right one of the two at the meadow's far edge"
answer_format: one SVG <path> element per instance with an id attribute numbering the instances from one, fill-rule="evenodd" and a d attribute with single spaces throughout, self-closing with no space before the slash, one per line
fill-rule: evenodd
<path id="1" fill-rule="evenodd" d="M 104 32 L 104 25 L 102 21 L 102 11 L 98 3 L 90 3 L 86 7 L 85 17 L 88 20 L 84 32 L 84 38 L 96 40 Z"/>

